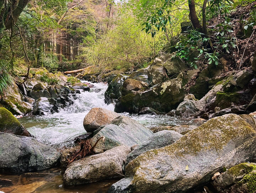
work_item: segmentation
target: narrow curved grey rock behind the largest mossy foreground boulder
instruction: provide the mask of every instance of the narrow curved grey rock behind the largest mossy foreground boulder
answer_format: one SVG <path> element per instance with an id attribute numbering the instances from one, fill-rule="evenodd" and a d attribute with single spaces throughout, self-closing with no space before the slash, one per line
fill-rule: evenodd
<path id="1" fill-rule="evenodd" d="M 161 131 L 147 138 L 142 144 L 137 145 L 133 151 L 127 155 L 125 166 L 139 155 L 151 150 L 170 145 L 180 139 L 183 135 L 175 131 Z"/>

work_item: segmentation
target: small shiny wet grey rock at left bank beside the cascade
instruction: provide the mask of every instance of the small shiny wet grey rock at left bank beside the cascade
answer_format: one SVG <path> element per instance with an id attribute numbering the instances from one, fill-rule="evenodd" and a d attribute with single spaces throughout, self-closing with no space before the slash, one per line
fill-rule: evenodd
<path id="1" fill-rule="evenodd" d="M 47 115 L 51 113 L 51 105 L 46 97 L 40 97 L 34 104 L 33 115 Z"/>

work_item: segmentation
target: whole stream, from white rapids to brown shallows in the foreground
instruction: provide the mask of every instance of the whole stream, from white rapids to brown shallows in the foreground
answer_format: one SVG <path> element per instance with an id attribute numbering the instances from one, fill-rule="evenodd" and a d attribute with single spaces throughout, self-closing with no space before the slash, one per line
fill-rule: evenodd
<path id="1" fill-rule="evenodd" d="M 83 128 L 83 119 L 94 108 L 104 108 L 114 111 L 114 104 L 104 103 L 104 93 L 108 88 L 105 83 L 90 83 L 94 85 L 90 92 L 81 91 L 77 94 L 74 104 L 59 113 L 46 116 L 28 116 L 20 118 L 19 121 L 40 142 L 61 148 L 73 146 L 73 139 L 86 134 Z M 177 125 L 183 123 L 175 117 L 164 115 L 130 115 L 123 113 L 147 127 L 160 125 Z M 106 192 L 109 187 L 119 179 L 105 180 L 92 184 L 65 187 L 62 175 L 64 170 L 53 168 L 39 173 L 26 173 L 22 175 L 0 175 L 0 191 L 5 193 L 32 193 L 32 192 L 76 192 L 76 193 L 99 193 Z M 12 184 L 8 185 L 9 180 Z"/>

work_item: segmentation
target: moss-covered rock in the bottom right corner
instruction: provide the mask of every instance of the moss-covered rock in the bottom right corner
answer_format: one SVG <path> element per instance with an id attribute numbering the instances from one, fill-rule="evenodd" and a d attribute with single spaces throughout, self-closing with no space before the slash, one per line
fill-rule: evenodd
<path id="1" fill-rule="evenodd" d="M 221 174 L 214 182 L 218 192 L 254 192 L 256 176 L 255 163 L 241 163 Z"/>

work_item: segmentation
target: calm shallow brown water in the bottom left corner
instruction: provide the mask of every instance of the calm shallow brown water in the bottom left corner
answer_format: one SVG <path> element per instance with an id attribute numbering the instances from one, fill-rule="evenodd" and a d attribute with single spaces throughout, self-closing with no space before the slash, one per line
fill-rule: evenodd
<path id="1" fill-rule="evenodd" d="M 100 193 L 106 192 L 119 179 L 65 187 L 62 180 L 63 170 L 53 168 L 39 173 L 0 175 L 0 191 L 5 193 Z"/>

